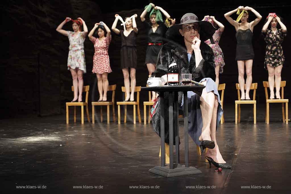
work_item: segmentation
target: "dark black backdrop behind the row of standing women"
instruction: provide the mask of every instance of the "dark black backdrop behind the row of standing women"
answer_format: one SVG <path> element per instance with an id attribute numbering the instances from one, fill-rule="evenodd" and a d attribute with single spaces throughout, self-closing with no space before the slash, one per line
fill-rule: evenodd
<path id="1" fill-rule="evenodd" d="M 267 81 L 268 74 L 264 70 L 265 42 L 261 29 L 265 18 L 270 12 L 275 12 L 284 18 L 284 24 L 289 30 L 290 3 L 287 1 L 2 1 L 2 76 L 1 76 L 1 118 L 11 118 L 23 115 L 55 115 L 65 113 L 65 102 L 72 100 L 72 79 L 67 70 L 68 38 L 57 33 L 56 27 L 65 19 L 82 17 L 90 31 L 96 22 L 103 21 L 109 28 L 114 21 L 114 14 L 123 18 L 137 14 L 138 68 L 136 70 L 137 86 L 145 86 L 148 70 L 144 65 L 147 36 L 145 28 L 139 19 L 145 5 L 154 3 L 164 8 L 171 18 L 180 22 L 185 13 L 195 13 L 198 18 L 213 15 L 224 24 L 225 30 L 221 36 L 220 46 L 225 56 L 225 67 L 220 74 L 220 83 L 226 83 L 225 104 L 234 104 L 237 99 L 235 83 L 237 83 L 237 63 L 235 61 L 235 28 L 231 26 L 223 14 L 238 6 L 250 6 L 262 15 L 262 20 L 254 28 L 253 47 L 253 82 L 258 82 L 257 101 L 265 103 L 265 93 L 262 81 Z M 261 2 L 261 1 L 260 1 Z M 232 15 L 233 19 L 237 15 Z M 148 18 L 148 15 L 146 16 Z M 249 20 L 255 19 L 253 13 Z M 118 23 L 118 28 L 122 26 Z M 71 30 L 71 23 L 65 24 L 65 30 Z M 112 31 L 111 31 L 112 32 Z M 109 84 L 117 84 L 116 101 L 123 99 L 121 86 L 123 74 L 120 69 L 120 37 L 113 32 L 109 47 L 109 58 L 113 72 L 109 74 Z M 285 64 L 282 80 L 287 80 L 285 98 L 290 96 L 289 72 L 290 34 L 283 42 Z M 96 75 L 92 74 L 94 47 L 86 38 L 85 43 L 86 69 L 84 85 L 90 85 L 89 102 L 98 99 Z M 111 94 L 108 93 L 108 96 Z M 85 97 L 85 95 L 83 95 Z M 109 98 L 110 99 L 110 98 Z M 147 92 L 141 93 L 141 102 L 148 99 Z M 90 103 L 91 104 L 91 103 Z M 91 108 L 90 108 L 91 110 Z"/>

